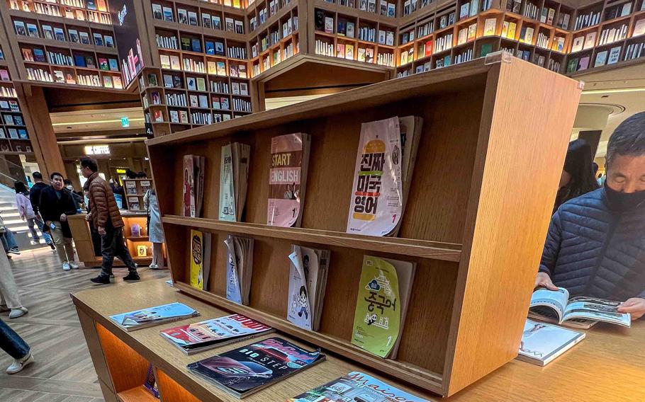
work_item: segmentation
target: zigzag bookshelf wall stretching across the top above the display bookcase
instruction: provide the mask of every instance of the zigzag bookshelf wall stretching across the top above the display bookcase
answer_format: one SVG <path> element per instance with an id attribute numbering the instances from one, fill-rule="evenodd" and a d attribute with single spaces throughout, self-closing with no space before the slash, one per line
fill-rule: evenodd
<path id="1" fill-rule="evenodd" d="M 500 50 L 561 74 L 645 56 L 645 0 L 598 1 L 580 9 L 553 0 L 227 1 L 147 0 L 153 25 L 150 42 L 157 46 L 159 68 L 147 69 L 140 90 L 155 135 L 202 125 L 191 117 L 193 110 L 203 110 L 218 122 L 261 109 L 251 100 L 252 93 L 237 87 L 246 84 L 243 88 L 250 91 L 254 79 L 262 79 L 301 52 L 344 59 L 349 65 L 380 64 L 393 76 L 447 67 Z M 305 15 L 302 26 L 298 15 L 301 19 Z M 226 18 L 233 22 L 227 24 Z M 242 27 L 243 32 L 235 32 Z M 586 39 L 589 33 L 595 38 L 577 50 L 576 38 Z M 170 45 L 174 48 L 169 42 L 157 42 L 157 37 L 174 38 Z M 230 52 L 232 46 L 244 52 L 236 56 Z M 185 59 L 203 64 L 202 70 L 196 73 L 186 67 Z M 208 62 L 214 63 L 211 69 Z M 245 79 L 232 74 L 230 66 L 239 64 L 246 67 Z M 149 74 L 155 75 L 156 85 L 148 81 Z M 175 84 L 164 82 L 164 74 L 176 77 L 171 79 Z M 197 88 L 191 84 L 196 76 L 203 76 Z M 244 109 L 236 104 L 240 101 L 245 101 Z"/>

